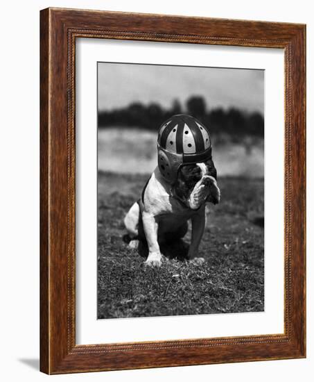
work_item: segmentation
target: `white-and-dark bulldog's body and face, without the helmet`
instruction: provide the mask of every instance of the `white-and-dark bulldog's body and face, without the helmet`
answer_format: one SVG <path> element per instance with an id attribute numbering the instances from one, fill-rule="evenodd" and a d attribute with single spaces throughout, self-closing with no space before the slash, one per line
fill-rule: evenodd
<path id="1" fill-rule="evenodd" d="M 182 165 L 173 184 L 162 176 L 159 166 L 152 173 L 141 198 L 135 202 L 124 219 L 130 247 L 138 241 L 147 242 L 146 264 L 160 266 L 164 242 L 180 240 L 186 235 L 191 221 L 191 244 L 187 258 L 202 263 L 198 257 L 200 240 L 206 224 L 205 204 L 218 204 L 220 190 L 213 161 Z"/>

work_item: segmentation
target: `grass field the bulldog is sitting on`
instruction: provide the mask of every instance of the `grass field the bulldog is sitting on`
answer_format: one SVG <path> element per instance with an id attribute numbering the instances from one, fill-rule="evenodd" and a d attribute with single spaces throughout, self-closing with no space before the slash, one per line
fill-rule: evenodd
<path id="1" fill-rule="evenodd" d="M 98 318 L 263 311 L 263 180 L 219 178 L 221 202 L 208 205 L 200 244 L 205 263 L 172 258 L 152 269 L 122 240 L 147 178 L 98 175 Z"/>

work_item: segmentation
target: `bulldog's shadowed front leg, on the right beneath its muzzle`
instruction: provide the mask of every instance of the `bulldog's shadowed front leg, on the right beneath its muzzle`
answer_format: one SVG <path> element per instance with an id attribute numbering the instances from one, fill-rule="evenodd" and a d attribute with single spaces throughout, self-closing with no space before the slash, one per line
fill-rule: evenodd
<path id="1" fill-rule="evenodd" d="M 193 263 L 200 264 L 204 262 L 204 258 L 198 257 L 198 247 L 204 233 L 206 224 L 205 208 L 202 206 L 197 214 L 192 217 L 192 239 L 189 248 L 188 258 Z"/>

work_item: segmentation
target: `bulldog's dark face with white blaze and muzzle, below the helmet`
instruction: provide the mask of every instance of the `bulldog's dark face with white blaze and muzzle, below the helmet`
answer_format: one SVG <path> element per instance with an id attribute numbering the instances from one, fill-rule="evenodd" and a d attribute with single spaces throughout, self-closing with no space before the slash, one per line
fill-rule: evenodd
<path id="1" fill-rule="evenodd" d="M 220 190 L 217 185 L 217 171 L 212 160 L 180 167 L 173 193 L 192 210 L 207 201 L 217 204 Z"/>

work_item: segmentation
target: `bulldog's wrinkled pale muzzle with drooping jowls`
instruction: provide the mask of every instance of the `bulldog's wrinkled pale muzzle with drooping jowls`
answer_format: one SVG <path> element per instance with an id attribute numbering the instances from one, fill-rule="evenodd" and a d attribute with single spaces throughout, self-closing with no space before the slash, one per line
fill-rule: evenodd
<path id="1" fill-rule="evenodd" d="M 208 175 L 203 176 L 202 179 L 195 184 L 188 203 L 192 210 L 197 210 L 205 201 L 210 201 L 213 204 L 217 204 L 220 201 L 220 190 L 216 180 Z"/>

